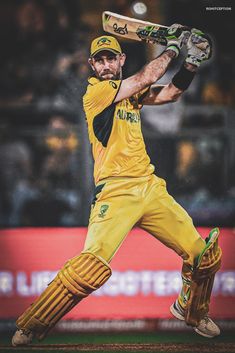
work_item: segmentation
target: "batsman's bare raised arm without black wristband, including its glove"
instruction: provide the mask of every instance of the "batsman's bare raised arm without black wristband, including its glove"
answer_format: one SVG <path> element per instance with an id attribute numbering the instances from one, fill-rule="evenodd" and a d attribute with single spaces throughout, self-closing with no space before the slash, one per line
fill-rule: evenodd
<path id="1" fill-rule="evenodd" d="M 168 32 L 166 50 L 135 75 L 123 80 L 114 102 L 131 97 L 133 94 L 151 86 L 165 74 L 171 61 L 179 55 L 186 37 L 189 36 L 188 29 L 186 30 L 185 27 L 178 24 L 169 27 Z"/>

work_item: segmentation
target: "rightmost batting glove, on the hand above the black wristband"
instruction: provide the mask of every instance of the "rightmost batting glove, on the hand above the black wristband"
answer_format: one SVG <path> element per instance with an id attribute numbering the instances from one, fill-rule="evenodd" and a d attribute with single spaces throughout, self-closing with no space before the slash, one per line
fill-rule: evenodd
<path id="1" fill-rule="evenodd" d="M 203 61 L 209 60 L 212 55 L 212 41 L 210 37 L 193 28 L 186 44 L 188 56 L 186 62 L 199 67 Z"/>

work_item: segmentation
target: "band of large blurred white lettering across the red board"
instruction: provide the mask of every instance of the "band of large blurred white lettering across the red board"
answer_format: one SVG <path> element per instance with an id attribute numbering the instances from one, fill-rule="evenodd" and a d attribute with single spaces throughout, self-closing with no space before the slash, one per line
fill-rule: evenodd
<path id="1" fill-rule="evenodd" d="M 0 271 L 0 297 L 38 296 L 56 276 L 57 271 Z M 113 275 L 94 296 L 136 295 L 156 297 L 177 295 L 181 289 L 180 271 L 113 271 Z M 221 271 L 215 276 L 213 295 L 235 297 L 235 271 Z"/>

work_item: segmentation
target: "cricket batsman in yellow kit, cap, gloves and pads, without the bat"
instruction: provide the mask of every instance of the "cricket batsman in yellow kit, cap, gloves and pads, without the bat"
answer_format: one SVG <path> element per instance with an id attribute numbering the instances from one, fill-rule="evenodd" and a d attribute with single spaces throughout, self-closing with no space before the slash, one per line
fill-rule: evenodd
<path id="1" fill-rule="evenodd" d="M 113 256 L 136 225 L 182 258 L 182 290 L 170 307 L 173 316 L 202 336 L 220 334 L 208 316 L 214 276 L 221 263 L 219 230 L 213 229 L 202 239 L 187 212 L 168 194 L 166 182 L 154 174 L 140 118 L 143 105 L 167 104 L 181 97 L 199 66 L 210 58 L 211 41 L 202 31 L 178 24 L 169 27 L 166 40 L 161 55 L 125 79 L 126 56 L 118 41 L 106 35 L 92 41 L 89 64 L 93 75 L 83 103 L 96 188 L 85 246 L 18 318 L 13 346 L 43 339 L 66 313 L 102 286 L 112 274 Z M 187 56 L 179 71 L 169 84 L 156 85 L 184 45 Z"/>

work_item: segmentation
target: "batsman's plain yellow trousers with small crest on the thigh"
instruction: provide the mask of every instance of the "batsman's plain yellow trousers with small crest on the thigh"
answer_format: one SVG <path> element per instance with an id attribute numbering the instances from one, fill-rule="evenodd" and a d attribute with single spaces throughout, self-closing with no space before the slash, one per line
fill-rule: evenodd
<path id="1" fill-rule="evenodd" d="M 195 257 L 204 249 L 205 241 L 188 213 L 168 194 L 163 179 L 150 175 L 100 182 L 96 187 L 84 251 L 110 262 L 134 226 L 146 230 L 182 257 L 183 287 L 178 299 L 184 307 L 187 278 L 190 280 L 190 269 Z"/>

